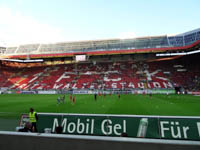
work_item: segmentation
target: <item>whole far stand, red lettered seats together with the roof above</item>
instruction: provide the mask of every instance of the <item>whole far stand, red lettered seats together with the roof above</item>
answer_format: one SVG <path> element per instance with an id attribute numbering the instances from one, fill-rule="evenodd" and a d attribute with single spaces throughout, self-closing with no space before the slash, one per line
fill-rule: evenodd
<path id="1" fill-rule="evenodd" d="M 174 36 L 110 39 L 7 47 L 3 58 L 43 58 L 43 63 L 1 60 L 0 87 L 9 89 L 173 89 L 198 91 L 199 54 L 158 59 L 155 53 L 200 48 L 200 29 Z M 76 62 L 76 55 L 85 55 Z"/>

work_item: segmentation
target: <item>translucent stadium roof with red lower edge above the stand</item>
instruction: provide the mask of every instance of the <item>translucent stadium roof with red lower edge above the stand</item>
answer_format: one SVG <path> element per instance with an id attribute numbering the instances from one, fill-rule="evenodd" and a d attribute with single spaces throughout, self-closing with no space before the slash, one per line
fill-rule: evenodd
<path id="1" fill-rule="evenodd" d="M 130 39 L 106 39 L 93 41 L 59 42 L 50 44 L 26 44 L 7 47 L 4 57 L 19 55 L 60 56 L 74 54 L 134 53 L 184 49 L 200 42 L 200 28 L 175 36 L 149 36 Z"/>

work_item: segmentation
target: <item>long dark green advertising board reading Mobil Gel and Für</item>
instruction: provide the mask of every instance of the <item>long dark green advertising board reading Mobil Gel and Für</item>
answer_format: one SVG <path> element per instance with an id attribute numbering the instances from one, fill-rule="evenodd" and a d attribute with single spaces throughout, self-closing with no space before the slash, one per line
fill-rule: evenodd
<path id="1" fill-rule="evenodd" d="M 38 130 L 63 134 L 128 136 L 155 139 L 200 139 L 199 117 L 161 117 L 135 115 L 89 115 L 38 113 Z"/>

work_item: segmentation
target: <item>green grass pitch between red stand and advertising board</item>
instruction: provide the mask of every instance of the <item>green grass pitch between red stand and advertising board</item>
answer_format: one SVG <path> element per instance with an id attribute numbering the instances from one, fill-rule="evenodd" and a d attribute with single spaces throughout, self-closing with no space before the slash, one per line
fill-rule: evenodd
<path id="1" fill-rule="evenodd" d="M 88 114 L 132 114 L 200 116 L 200 97 L 192 95 L 75 95 L 73 105 L 66 95 L 66 103 L 57 105 L 60 95 L 0 95 L 0 118 L 19 118 L 33 107 L 37 112 L 88 113 Z"/>

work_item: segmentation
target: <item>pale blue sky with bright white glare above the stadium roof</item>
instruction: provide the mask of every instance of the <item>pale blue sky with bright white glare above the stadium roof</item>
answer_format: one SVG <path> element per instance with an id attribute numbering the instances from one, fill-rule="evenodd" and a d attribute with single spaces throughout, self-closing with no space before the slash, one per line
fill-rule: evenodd
<path id="1" fill-rule="evenodd" d="M 200 0 L 1 0 L 0 46 L 173 35 L 200 28 Z"/>

